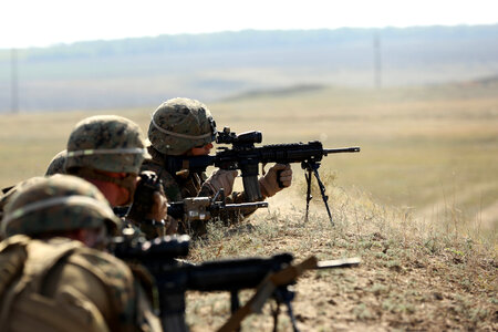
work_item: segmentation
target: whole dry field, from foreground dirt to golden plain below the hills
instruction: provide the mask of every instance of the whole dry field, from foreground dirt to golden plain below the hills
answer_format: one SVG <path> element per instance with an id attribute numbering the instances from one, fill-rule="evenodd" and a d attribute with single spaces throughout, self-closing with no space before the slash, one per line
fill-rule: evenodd
<path id="1" fill-rule="evenodd" d="M 209 104 L 218 127 L 259 129 L 263 143 L 320 139 L 361 146 L 320 168 L 335 227 L 320 195 L 303 221 L 304 176 L 227 234 L 214 226 L 191 259 L 291 251 L 298 260 L 360 256 L 356 269 L 307 272 L 295 313 L 303 331 L 498 329 L 498 84 L 356 90 L 297 89 Z M 0 117 L 0 186 L 42 175 L 71 128 L 91 114 L 120 114 L 146 131 L 155 106 Z M 284 197 L 282 197 L 284 196 Z M 189 294 L 194 331 L 228 318 L 224 294 Z M 222 300 L 221 300 L 222 299 Z M 281 330 L 289 330 L 282 315 Z M 269 330 L 271 315 L 245 322 Z M 206 328 L 209 326 L 209 328 Z"/>

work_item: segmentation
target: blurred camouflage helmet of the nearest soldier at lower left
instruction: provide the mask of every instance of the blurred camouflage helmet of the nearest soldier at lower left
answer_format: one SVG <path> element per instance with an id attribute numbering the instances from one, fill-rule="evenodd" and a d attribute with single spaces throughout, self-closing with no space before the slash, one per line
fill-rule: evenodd
<path id="1" fill-rule="evenodd" d="M 4 212 L 2 231 L 7 236 L 35 236 L 103 225 L 115 234 L 121 226 L 101 191 L 70 175 L 54 175 L 19 188 Z"/>

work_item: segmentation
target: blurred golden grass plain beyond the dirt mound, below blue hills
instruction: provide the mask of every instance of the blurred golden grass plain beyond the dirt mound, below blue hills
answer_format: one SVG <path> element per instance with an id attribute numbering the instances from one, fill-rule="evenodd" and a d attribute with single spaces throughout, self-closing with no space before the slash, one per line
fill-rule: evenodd
<path id="1" fill-rule="evenodd" d="M 219 128 L 259 129 L 264 144 L 320 139 L 361 146 L 324 158 L 338 184 L 361 186 L 382 204 L 496 240 L 498 229 L 498 82 L 430 87 L 345 89 L 317 85 L 253 91 L 208 103 Z M 40 175 L 64 148 L 74 124 L 91 114 L 121 114 L 144 132 L 147 108 L 3 115 L 0 186 Z M 45 162 L 43 162 L 45 160 Z M 302 176 L 299 165 L 294 172 Z"/>

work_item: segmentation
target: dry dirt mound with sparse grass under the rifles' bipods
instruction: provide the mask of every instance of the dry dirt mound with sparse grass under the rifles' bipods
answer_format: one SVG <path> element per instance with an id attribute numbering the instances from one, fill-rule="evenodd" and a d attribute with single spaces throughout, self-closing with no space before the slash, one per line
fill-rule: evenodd
<path id="1" fill-rule="evenodd" d="M 196 245 L 191 258 L 283 251 L 292 252 L 295 262 L 311 255 L 361 257 L 359 267 L 307 271 L 291 287 L 300 331 L 498 331 L 496 248 L 424 229 L 364 198 L 335 201 L 334 227 L 323 205 L 312 205 L 304 222 L 302 209 L 288 201 L 281 209 L 258 211 L 229 232 L 212 228 L 211 239 Z M 252 293 L 241 293 L 242 304 Z M 272 331 L 274 308 L 267 301 L 261 314 L 243 321 L 242 331 Z M 191 331 L 215 331 L 229 314 L 227 293 L 187 295 Z M 292 331 L 283 304 L 278 331 Z"/>

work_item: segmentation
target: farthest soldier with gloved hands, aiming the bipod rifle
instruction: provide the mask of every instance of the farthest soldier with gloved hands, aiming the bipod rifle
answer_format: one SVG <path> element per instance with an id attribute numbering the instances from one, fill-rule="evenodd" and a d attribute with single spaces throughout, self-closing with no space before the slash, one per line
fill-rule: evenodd
<path id="1" fill-rule="evenodd" d="M 165 160 L 168 156 L 208 155 L 215 137 L 216 123 L 206 105 L 189 98 L 168 100 L 159 105 L 152 116 L 148 127 L 148 153 L 152 160 L 145 160 L 142 169 L 154 170 L 159 176 L 170 201 L 186 197 L 212 196 L 224 188 L 227 197 L 230 196 L 229 201 L 243 203 L 243 193 L 232 193 L 237 170 L 217 169 L 207 178 L 205 173 L 190 173 L 186 169 L 172 174 L 166 167 Z M 291 185 L 290 166 L 277 164 L 259 179 L 263 198 L 282 189 L 277 181 L 278 174 L 284 187 Z M 190 227 L 203 228 L 204 224 Z M 184 226 L 184 229 L 188 227 Z M 199 231 L 204 232 L 203 229 Z"/>

